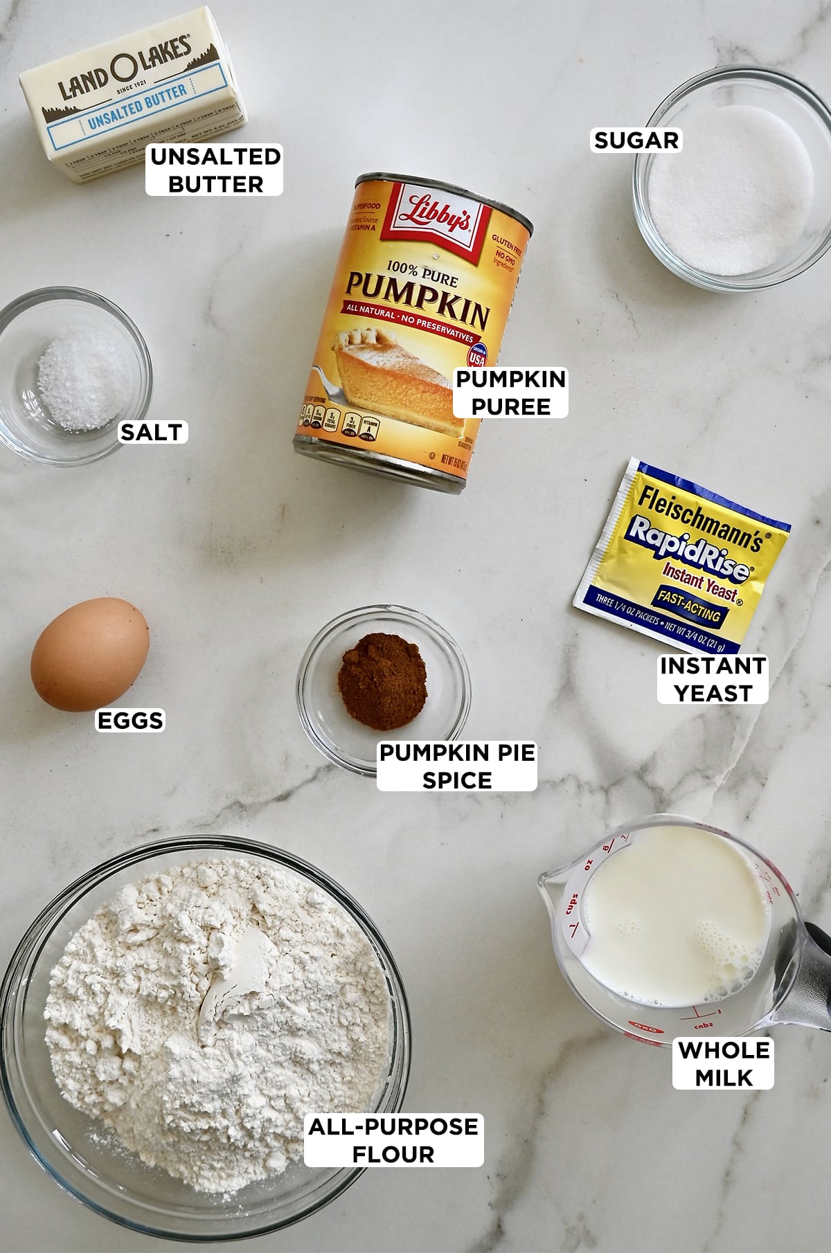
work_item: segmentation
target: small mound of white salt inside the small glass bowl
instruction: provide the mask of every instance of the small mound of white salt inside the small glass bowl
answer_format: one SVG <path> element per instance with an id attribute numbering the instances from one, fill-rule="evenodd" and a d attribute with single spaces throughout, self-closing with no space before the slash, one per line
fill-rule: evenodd
<path id="1" fill-rule="evenodd" d="M 130 362 L 122 345 L 99 331 L 68 331 L 38 362 L 38 388 L 66 431 L 95 431 L 123 413 L 130 400 Z"/>

